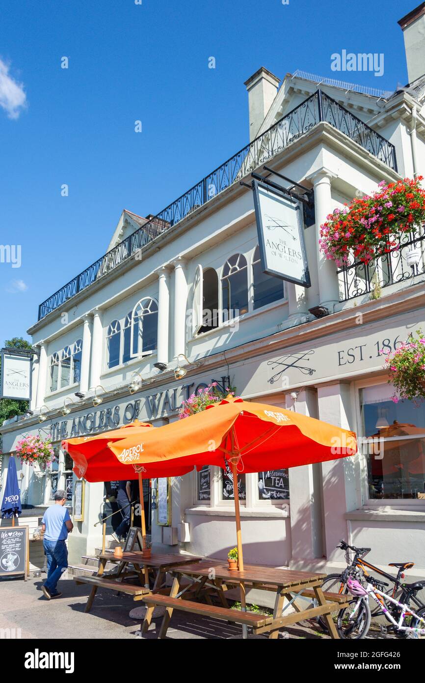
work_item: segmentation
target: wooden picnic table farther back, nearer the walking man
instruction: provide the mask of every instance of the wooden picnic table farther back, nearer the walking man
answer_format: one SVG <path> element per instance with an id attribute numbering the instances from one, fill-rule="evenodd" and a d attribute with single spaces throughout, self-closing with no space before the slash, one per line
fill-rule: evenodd
<path id="1" fill-rule="evenodd" d="M 85 611 L 89 612 L 93 604 L 98 588 L 106 588 L 119 593 L 133 596 L 133 600 L 142 600 L 143 596 L 151 592 L 163 591 L 168 593 L 170 589 L 165 587 L 166 572 L 168 567 L 179 567 L 186 563 L 196 563 L 201 557 L 192 555 L 172 555 L 171 553 L 152 553 L 151 557 L 143 557 L 141 550 L 132 550 L 123 553 L 122 557 L 115 557 L 113 553 L 100 553 L 99 568 L 96 576 L 74 576 L 76 584 L 87 583 L 91 585 L 91 591 Z M 104 574 L 106 563 L 117 564 L 117 571 Z M 133 569 L 129 567 L 132 565 Z M 153 574 L 153 588 L 149 587 L 149 572 Z M 139 579 L 139 585 L 126 583 L 128 579 Z"/>

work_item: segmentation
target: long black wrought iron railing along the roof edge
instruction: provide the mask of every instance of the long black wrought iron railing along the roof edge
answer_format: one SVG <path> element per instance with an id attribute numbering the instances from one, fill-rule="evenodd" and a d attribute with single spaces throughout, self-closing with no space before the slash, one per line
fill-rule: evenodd
<path id="1" fill-rule="evenodd" d="M 78 292 L 85 290 L 106 273 L 110 273 L 119 264 L 145 247 L 148 242 L 158 237 L 164 230 L 179 223 L 196 208 L 206 204 L 209 199 L 269 161 L 295 139 L 305 135 L 308 130 L 323 121 L 331 124 L 334 128 L 338 128 L 390 168 L 397 169 L 396 152 L 392 143 L 369 128 L 351 112 L 341 107 L 336 100 L 321 90 L 317 90 L 295 109 L 284 115 L 265 133 L 261 133 L 259 137 L 231 156 L 215 171 L 205 176 L 188 192 L 181 195 L 123 242 L 120 242 L 119 245 L 83 270 L 83 273 L 74 277 L 55 294 L 49 296 L 38 307 L 38 320 L 69 301 Z"/>

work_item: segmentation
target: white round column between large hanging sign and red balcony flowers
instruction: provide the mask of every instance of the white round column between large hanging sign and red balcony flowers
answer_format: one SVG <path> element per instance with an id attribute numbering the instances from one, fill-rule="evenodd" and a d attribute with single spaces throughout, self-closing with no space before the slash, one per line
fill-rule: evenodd
<path id="1" fill-rule="evenodd" d="M 317 269 L 319 273 L 319 302 L 331 313 L 339 301 L 338 276 L 336 265 L 327 259 L 319 249 L 320 226 L 325 223 L 327 214 L 332 210 L 331 178 L 329 171 L 319 171 L 312 178 L 314 187 L 314 211 L 316 214 Z"/>

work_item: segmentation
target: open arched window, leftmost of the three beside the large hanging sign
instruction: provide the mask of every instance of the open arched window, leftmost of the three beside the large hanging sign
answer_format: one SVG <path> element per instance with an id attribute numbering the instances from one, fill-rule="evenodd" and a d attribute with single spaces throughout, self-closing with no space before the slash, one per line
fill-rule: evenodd
<path id="1" fill-rule="evenodd" d="M 218 327 L 218 275 L 214 268 L 199 265 L 193 287 L 193 334 Z"/>

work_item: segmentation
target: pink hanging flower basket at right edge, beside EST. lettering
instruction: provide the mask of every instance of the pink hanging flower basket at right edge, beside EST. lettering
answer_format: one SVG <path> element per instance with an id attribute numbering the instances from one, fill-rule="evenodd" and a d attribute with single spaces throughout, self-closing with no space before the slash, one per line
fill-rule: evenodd
<path id="1" fill-rule="evenodd" d="M 385 359 L 385 366 L 390 373 L 388 383 L 394 386 L 396 394 L 393 401 L 399 398 L 415 403 L 425 399 L 425 337 L 417 330 Z"/>

